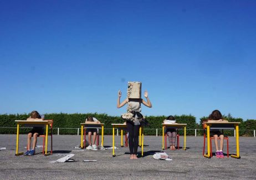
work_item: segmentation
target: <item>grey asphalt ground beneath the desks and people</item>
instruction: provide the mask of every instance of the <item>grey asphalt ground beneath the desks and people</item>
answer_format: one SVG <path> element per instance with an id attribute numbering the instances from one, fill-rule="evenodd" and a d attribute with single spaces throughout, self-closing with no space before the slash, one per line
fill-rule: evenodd
<path id="1" fill-rule="evenodd" d="M 53 155 L 43 156 L 42 148 L 38 148 L 34 156 L 15 156 L 16 135 L 0 135 L 0 147 L 6 147 L 0 151 L 0 179 L 256 179 L 255 137 L 240 137 L 240 159 L 208 159 L 202 156 L 203 137 L 187 136 L 186 151 L 164 150 L 172 161 L 152 157 L 161 151 L 161 137 L 145 136 L 144 157 L 138 160 L 130 160 L 129 147 L 120 147 L 120 136 L 115 137 L 116 157 L 112 157 L 112 150 L 74 149 L 80 144 L 77 135 L 54 135 Z M 19 151 L 24 152 L 27 135 L 19 139 Z M 37 145 L 42 145 L 42 138 Z M 226 141 L 224 145 L 226 152 Z M 112 146 L 112 136 L 104 136 L 104 146 Z M 235 152 L 235 137 L 229 137 L 229 153 Z M 49 163 L 70 153 L 77 162 Z"/>

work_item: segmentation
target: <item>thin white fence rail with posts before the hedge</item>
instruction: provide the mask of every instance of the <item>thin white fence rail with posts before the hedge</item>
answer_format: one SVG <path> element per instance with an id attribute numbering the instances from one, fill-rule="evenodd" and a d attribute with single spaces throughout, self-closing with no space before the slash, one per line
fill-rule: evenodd
<path id="1" fill-rule="evenodd" d="M 0 127 L 0 129 L 17 129 L 17 128 L 14 128 L 14 127 Z M 28 128 L 20 128 L 20 129 L 28 129 Z M 77 135 L 79 135 L 80 133 L 80 128 L 53 128 L 53 129 L 57 129 L 57 135 L 60 134 L 60 131 L 62 129 L 76 129 L 77 130 Z M 112 128 L 105 128 L 105 130 L 112 130 Z M 116 130 L 116 135 L 119 136 L 119 130 L 118 129 L 115 129 Z M 162 129 L 144 129 L 144 130 L 151 130 L 151 131 L 156 131 L 156 136 L 158 136 L 158 130 L 162 130 Z M 186 130 L 194 130 L 194 136 L 197 136 L 197 131 L 198 130 L 203 130 L 203 129 L 186 129 Z M 231 130 L 233 131 L 233 130 Z M 255 137 L 255 130 L 239 130 L 239 131 L 253 131 L 253 136 Z M 235 130 L 234 130 L 234 137 L 235 137 Z"/>

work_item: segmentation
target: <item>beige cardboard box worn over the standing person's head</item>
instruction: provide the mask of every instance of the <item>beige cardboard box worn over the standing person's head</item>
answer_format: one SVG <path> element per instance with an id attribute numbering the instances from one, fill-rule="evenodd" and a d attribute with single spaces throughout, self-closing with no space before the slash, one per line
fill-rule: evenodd
<path id="1" fill-rule="evenodd" d="M 141 98 L 141 82 L 128 82 L 127 98 Z"/>

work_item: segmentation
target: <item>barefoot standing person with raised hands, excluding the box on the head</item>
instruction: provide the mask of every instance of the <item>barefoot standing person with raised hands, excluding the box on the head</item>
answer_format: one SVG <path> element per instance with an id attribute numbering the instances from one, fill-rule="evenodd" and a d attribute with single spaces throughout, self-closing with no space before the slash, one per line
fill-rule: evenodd
<path id="1" fill-rule="evenodd" d="M 126 120 L 127 124 L 127 130 L 129 133 L 129 149 L 130 149 L 130 159 L 136 160 L 137 159 L 137 150 L 139 146 L 139 129 L 142 121 L 144 121 L 143 115 L 141 112 L 141 103 L 146 105 L 146 107 L 151 108 L 152 104 L 150 102 L 150 99 L 148 97 L 147 91 L 144 92 L 144 97 L 147 99 L 145 101 L 142 98 L 127 98 L 120 103 L 121 98 L 121 91 L 118 92 L 118 98 L 117 98 L 117 108 L 123 107 L 125 104 L 128 104 L 127 106 L 127 113 L 122 114 L 122 118 Z"/>

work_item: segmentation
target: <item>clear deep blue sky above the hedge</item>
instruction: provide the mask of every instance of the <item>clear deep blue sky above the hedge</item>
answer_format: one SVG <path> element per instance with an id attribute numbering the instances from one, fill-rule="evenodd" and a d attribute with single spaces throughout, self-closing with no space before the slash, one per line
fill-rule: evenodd
<path id="1" fill-rule="evenodd" d="M 256 119 L 255 1 L 1 1 L 0 114 L 144 115 L 219 109 Z"/>

